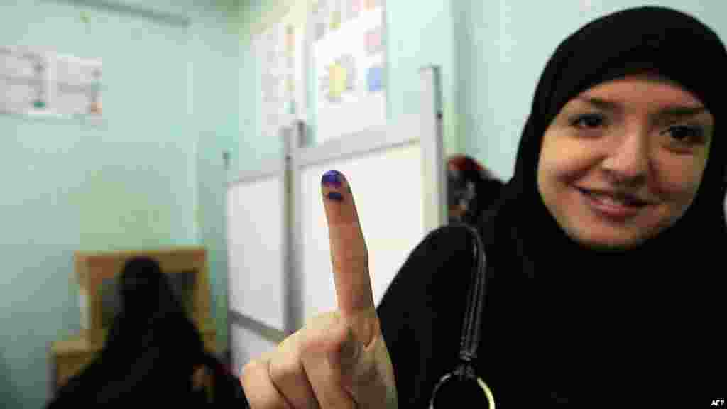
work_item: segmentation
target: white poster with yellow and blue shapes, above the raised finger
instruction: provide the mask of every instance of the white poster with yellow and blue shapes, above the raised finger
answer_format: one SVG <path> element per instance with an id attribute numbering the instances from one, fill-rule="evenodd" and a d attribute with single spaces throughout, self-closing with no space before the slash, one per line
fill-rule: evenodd
<path id="1" fill-rule="evenodd" d="M 313 5 L 318 143 L 386 124 L 380 3 L 319 0 Z"/>

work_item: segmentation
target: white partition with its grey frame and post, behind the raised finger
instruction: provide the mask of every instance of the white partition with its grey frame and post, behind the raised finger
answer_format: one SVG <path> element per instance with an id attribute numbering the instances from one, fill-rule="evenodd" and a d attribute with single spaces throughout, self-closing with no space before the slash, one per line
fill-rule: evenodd
<path id="1" fill-rule="evenodd" d="M 300 285 L 300 326 L 337 307 L 321 176 L 343 172 L 351 184 L 369 250 L 374 301 L 379 303 L 411 250 L 446 221 L 444 157 L 438 126 L 438 72 L 422 70 L 422 111 L 395 124 L 294 149 L 293 266 Z"/>

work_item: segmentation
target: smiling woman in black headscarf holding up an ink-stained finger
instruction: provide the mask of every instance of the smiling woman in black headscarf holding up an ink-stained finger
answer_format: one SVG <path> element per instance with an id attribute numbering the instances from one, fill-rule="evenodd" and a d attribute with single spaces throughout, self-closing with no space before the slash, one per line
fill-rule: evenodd
<path id="1" fill-rule="evenodd" d="M 594 20 L 555 50 L 515 175 L 478 224 L 475 368 L 497 408 L 691 408 L 724 393 L 725 72 L 718 36 L 662 7 Z M 246 366 L 252 408 L 425 408 L 459 362 L 472 238 L 430 234 L 371 314 L 353 196 L 323 191 L 339 309 Z"/>

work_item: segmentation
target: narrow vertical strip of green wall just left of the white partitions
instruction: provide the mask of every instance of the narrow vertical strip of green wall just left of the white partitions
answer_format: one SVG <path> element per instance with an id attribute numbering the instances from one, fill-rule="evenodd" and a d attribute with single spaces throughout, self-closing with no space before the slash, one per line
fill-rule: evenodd
<path id="1" fill-rule="evenodd" d="M 228 170 L 223 151 L 233 152 L 240 130 L 238 70 L 240 26 L 237 0 L 196 3 L 191 30 L 194 73 L 193 118 L 196 135 L 197 226 L 208 250 L 212 317 L 220 351 L 228 348 L 226 200 Z"/>

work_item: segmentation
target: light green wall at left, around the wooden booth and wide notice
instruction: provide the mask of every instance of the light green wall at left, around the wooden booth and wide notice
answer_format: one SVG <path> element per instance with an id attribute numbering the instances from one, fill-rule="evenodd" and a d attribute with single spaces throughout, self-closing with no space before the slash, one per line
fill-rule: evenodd
<path id="1" fill-rule="evenodd" d="M 49 343 L 79 330 L 74 250 L 205 245 L 227 343 L 222 151 L 238 134 L 236 1 L 0 3 L 5 45 L 104 63 L 104 122 L 0 116 L 0 407 L 48 399 Z M 86 13 L 84 22 L 81 12 Z"/>

